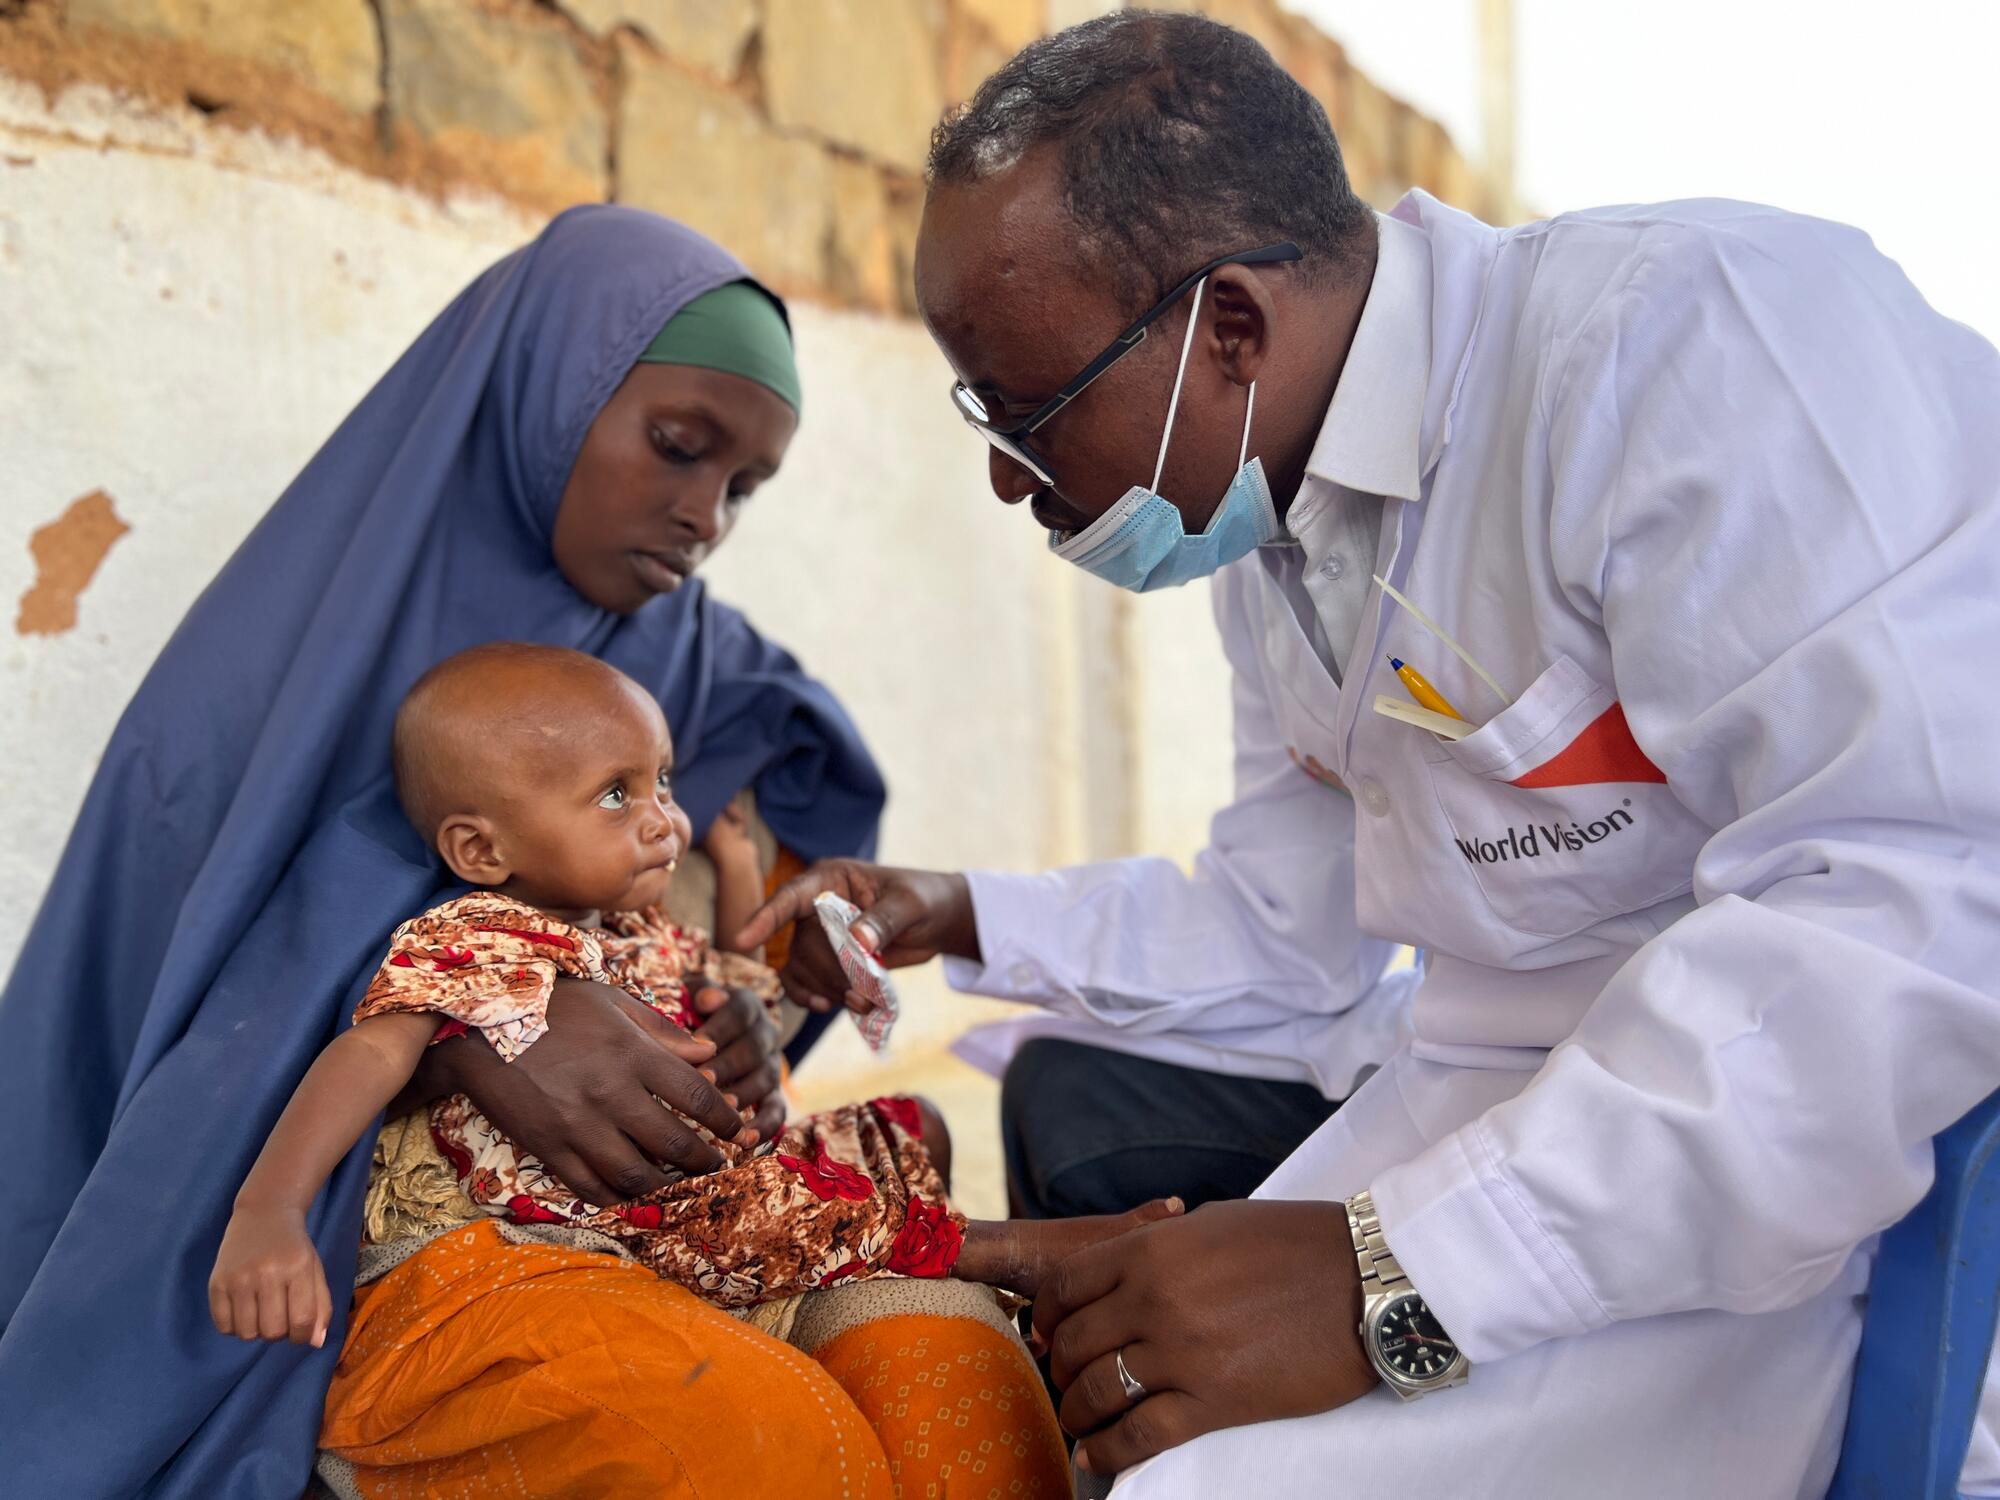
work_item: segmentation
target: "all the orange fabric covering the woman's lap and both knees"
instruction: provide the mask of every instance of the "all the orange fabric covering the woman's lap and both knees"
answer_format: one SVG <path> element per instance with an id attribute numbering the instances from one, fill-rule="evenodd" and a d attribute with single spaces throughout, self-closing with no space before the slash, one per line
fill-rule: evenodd
<path id="1" fill-rule="evenodd" d="M 492 1222 L 354 1294 L 320 1444 L 368 1500 L 1070 1492 L 1034 1366 L 984 1322 L 878 1318 L 808 1358 L 630 1262 Z"/>

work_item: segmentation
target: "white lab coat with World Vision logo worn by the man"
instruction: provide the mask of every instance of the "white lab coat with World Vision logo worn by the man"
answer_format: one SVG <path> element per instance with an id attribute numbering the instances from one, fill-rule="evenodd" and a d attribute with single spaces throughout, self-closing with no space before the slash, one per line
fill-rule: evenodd
<path id="1" fill-rule="evenodd" d="M 1746 204 L 1492 230 L 1412 194 L 1412 260 L 1424 316 L 1370 298 L 1342 388 L 1418 330 L 1420 406 L 1320 448 L 1408 472 L 1328 478 L 1406 494 L 1374 572 L 1510 702 L 1380 590 L 1336 690 L 1308 560 L 1266 548 L 1216 584 L 1220 872 L 980 878 L 988 966 L 954 980 L 1200 1034 L 1274 982 L 1366 1004 L 1370 940 L 1426 950 L 1408 1044 L 1264 1194 L 1372 1188 L 1472 1382 L 1214 1434 L 1120 1494 L 1816 1494 L 1874 1236 L 2000 1086 L 2000 356 L 1862 234 Z M 1390 654 L 1480 728 L 1372 712 Z M 1340 808 L 1268 814 L 1286 774 Z M 1308 838 L 1318 878 L 1254 874 Z M 1214 964 L 1176 978 L 1156 936 Z"/>

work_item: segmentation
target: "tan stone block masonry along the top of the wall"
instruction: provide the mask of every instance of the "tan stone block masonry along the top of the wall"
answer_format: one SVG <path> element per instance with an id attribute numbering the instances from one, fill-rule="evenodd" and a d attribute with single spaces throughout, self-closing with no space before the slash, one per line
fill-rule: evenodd
<path id="1" fill-rule="evenodd" d="M 1238 26 L 1326 106 L 1378 204 L 1488 208 L 1442 126 L 1276 0 Z M 612 198 L 706 230 L 786 294 L 908 310 L 924 148 L 1022 42 L 1096 0 L 0 0 L 0 74 L 106 84 L 528 214 Z"/>

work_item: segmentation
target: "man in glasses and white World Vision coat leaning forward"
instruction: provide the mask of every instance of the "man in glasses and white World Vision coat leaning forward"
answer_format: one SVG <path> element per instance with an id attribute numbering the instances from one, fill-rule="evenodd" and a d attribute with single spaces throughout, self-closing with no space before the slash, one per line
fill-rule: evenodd
<path id="1" fill-rule="evenodd" d="M 1822 1492 L 1874 1236 L 2000 1086 L 2000 356 L 1768 208 L 1376 216 L 1254 42 L 1144 12 L 940 128 L 916 282 L 1002 500 L 1214 576 L 1236 802 L 1192 878 L 832 864 L 756 928 L 836 888 L 896 962 L 1182 1034 L 1426 956 L 1254 1200 L 1044 1292 L 1078 1460 Z"/>

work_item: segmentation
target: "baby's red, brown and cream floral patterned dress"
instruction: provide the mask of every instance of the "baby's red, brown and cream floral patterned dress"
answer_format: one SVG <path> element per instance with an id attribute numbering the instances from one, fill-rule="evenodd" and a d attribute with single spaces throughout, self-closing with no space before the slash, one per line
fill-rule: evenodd
<path id="1" fill-rule="evenodd" d="M 548 996 L 562 974 L 618 984 L 688 1030 L 700 1024 L 690 982 L 750 982 L 768 1004 L 778 994 L 768 968 L 712 952 L 652 908 L 586 932 L 476 892 L 396 928 L 354 1020 L 434 1010 L 444 1018 L 434 1040 L 476 1030 L 512 1062 L 548 1030 Z M 514 1146 L 464 1094 L 430 1112 L 432 1140 L 488 1214 L 614 1236 L 642 1264 L 722 1308 L 848 1280 L 944 1276 L 958 1262 L 966 1220 L 944 1198 L 914 1100 L 810 1114 L 754 1150 L 688 1124 L 728 1166 L 600 1206 Z"/>

